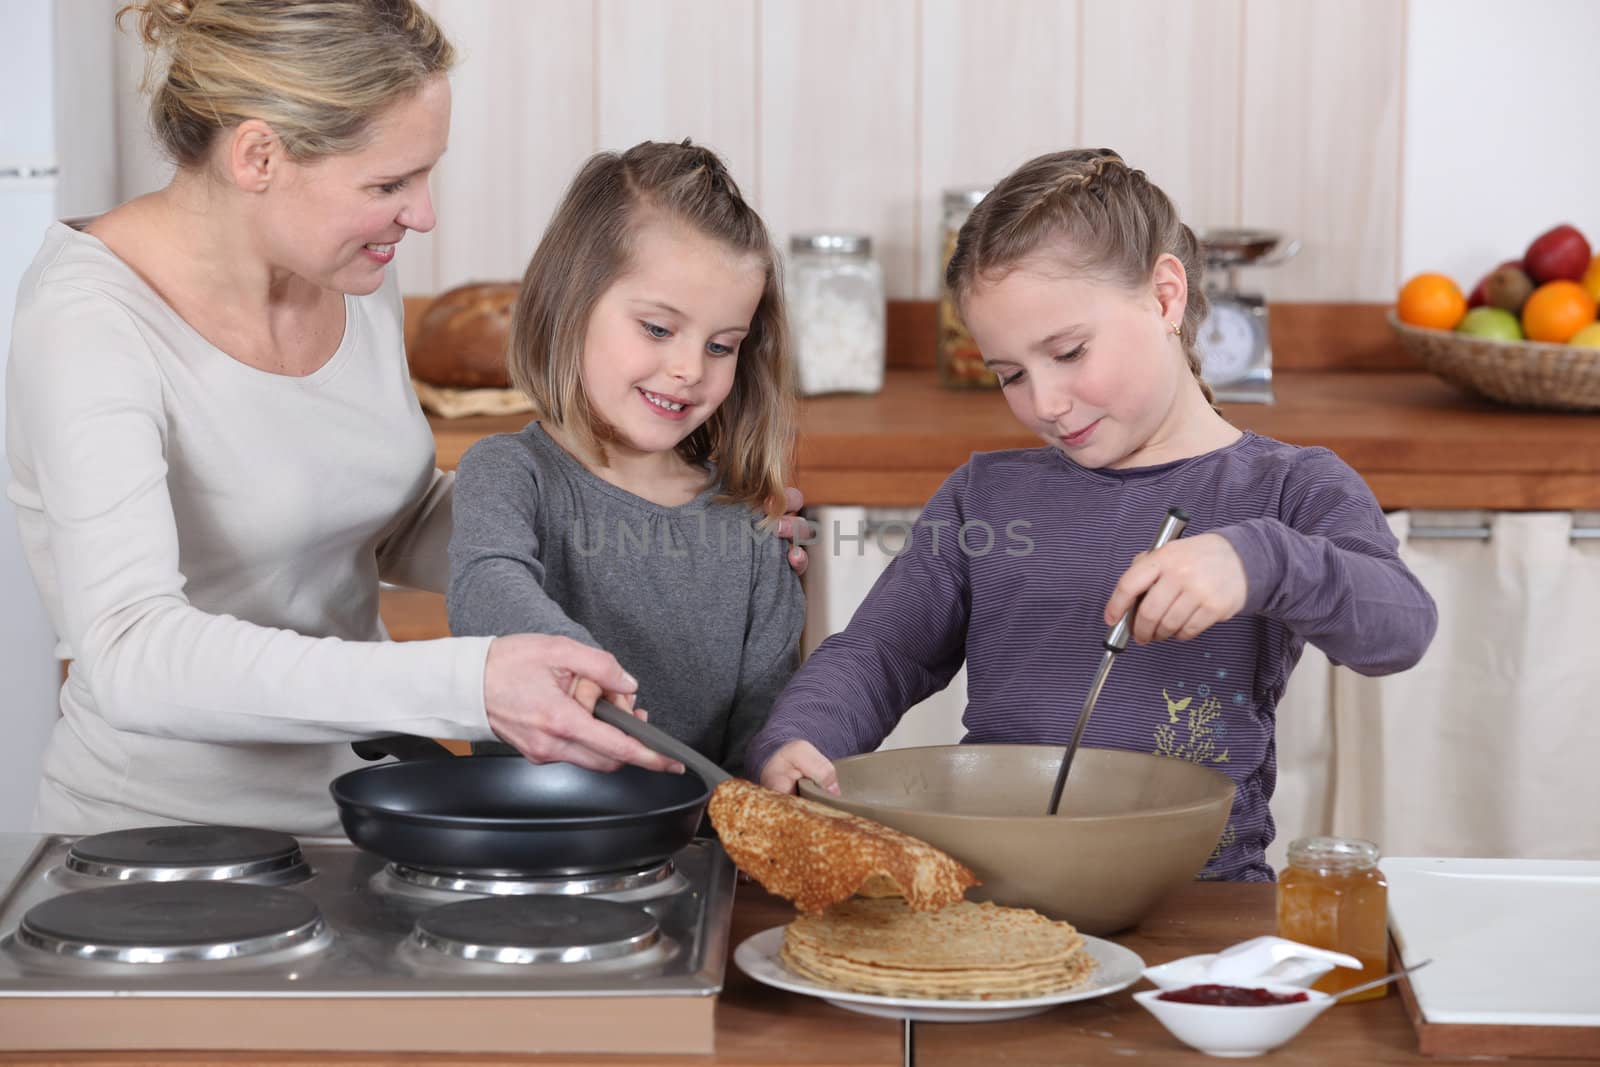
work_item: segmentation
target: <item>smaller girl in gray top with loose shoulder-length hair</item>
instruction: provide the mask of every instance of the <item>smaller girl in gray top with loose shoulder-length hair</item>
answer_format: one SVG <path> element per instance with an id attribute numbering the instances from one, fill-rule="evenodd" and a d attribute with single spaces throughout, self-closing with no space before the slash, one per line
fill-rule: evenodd
<path id="1" fill-rule="evenodd" d="M 795 424 L 776 256 L 722 162 L 688 141 L 590 158 L 509 365 L 538 418 L 461 461 L 451 630 L 605 648 L 651 721 L 741 771 L 805 611 L 770 522 Z"/>

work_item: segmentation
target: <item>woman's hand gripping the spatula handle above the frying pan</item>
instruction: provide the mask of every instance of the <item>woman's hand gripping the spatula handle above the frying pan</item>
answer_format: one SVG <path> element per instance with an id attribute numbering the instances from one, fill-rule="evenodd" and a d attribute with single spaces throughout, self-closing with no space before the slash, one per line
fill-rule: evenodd
<path id="1" fill-rule="evenodd" d="M 651 752 L 594 717 L 595 699 L 643 718 L 634 707 L 638 683 L 611 653 L 568 637 L 514 633 L 490 641 L 483 664 L 483 707 L 501 741 L 534 763 L 576 763 L 614 771 L 632 763 L 683 773 L 683 765 Z"/>

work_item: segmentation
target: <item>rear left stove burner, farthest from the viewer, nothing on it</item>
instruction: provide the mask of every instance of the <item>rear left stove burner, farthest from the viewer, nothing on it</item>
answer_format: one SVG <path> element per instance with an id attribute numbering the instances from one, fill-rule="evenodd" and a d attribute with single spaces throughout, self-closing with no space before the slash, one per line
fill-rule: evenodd
<path id="1" fill-rule="evenodd" d="M 72 843 L 62 867 L 117 881 L 229 881 L 304 869 L 288 833 L 237 825 L 154 825 Z"/>

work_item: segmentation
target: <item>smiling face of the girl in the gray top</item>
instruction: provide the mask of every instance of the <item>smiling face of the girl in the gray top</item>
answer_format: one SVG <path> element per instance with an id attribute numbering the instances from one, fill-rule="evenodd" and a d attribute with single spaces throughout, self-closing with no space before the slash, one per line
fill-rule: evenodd
<path id="1" fill-rule="evenodd" d="M 640 224 L 584 336 L 584 395 L 611 430 L 608 451 L 672 453 L 712 416 L 765 286 L 760 258 L 667 219 Z"/>

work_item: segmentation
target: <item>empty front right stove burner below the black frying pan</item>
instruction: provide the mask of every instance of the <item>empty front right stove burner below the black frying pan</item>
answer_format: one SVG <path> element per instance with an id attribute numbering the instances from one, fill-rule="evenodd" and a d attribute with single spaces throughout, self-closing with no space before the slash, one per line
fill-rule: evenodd
<path id="1" fill-rule="evenodd" d="M 632 905 L 571 896 L 514 896 L 446 904 L 422 913 L 411 941 L 458 960 L 594 963 L 645 952 L 656 920 Z"/>

